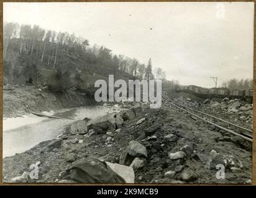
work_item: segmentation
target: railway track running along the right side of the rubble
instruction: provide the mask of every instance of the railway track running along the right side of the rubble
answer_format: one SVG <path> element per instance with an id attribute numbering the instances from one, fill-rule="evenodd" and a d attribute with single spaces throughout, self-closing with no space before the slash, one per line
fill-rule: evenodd
<path id="1" fill-rule="evenodd" d="M 217 128 L 222 129 L 223 131 L 233 134 L 234 136 L 239 136 L 242 139 L 252 142 L 252 131 L 250 129 L 247 129 L 242 126 L 238 126 L 237 124 L 230 123 L 228 121 L 225 121 L 221 118 L 217 118 L 215 116 L 204 113 L 202 111 L 194 110 L 192 108 L 189 108 L 188 106 L 181 105 L 179 103 L 176 103 L 173 100 L 170 100 L 170 98 L 168 98 L 166 96 L 162 96 L 162 98 L 164 101 L 167 101 L 167 103 L 169 103 L 171 106 L 175 106 L 179 110 L 182 110 L 188 114 L 191 114 L 191 118 L 193 118 L 193 119 L 196 119 L 196 120 L 201 119 L 205 123 L 212 124 L 212 125 L 216 126 Z M 202 118 L 201 115 L 208 117 L 208 119 Z M 223 126 L 223 123 L 224 123 L 224 125 L 226 124 L 229 127 L 229 129 L 227 129 L 226 126 Z M 232 127 L 232 129 L 230 129 L 231 127 Z"/>

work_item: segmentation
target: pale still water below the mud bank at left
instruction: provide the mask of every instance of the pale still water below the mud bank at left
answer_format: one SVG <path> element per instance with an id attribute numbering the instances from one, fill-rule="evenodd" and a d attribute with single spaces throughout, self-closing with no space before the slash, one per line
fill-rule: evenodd
<path id="1" fill-rule="evenodd" d="M 38 117 L 33 114 L 23 118 L 7 118 L 3 120 L 3 157 L 22 153 L 45 140 L 55 139 L 62 134 L 65 127 L 75 120 L 93 119 L 99 115 L 119 111 L 109 106 L 87 106 L 59 111 L 43 112 L 45 114 L 70 119 Z M 71 120 L 73 119 L 73 120 Z"/>

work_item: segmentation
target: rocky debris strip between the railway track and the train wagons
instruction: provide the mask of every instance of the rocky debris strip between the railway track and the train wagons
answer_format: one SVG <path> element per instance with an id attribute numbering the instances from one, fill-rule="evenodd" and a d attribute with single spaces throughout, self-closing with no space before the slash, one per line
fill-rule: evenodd
<path id="1" fill-rule="evenodd" d="M 242 101 L 237 98 L 233 100 L 223 98 L 218 101 L 211 99 L 198 101 L 183 96 L 175 98 L 175 101 L 181 105 L 188 106 L 198 111 L 203 111 L 204 113 L 211 114 L 229 121 L 230 123 L 252 129 L 253 105 L 247 101 Z"/>

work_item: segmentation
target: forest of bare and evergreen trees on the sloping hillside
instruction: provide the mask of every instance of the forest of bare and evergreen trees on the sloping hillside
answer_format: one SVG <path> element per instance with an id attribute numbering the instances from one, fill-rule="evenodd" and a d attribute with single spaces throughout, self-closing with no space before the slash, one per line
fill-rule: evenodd
<path id="1" fill-rule="evenodd" d="M 54 72 L 55 81 L 85 84 L 83 75 L 122 79 L 163 79 L 165 72 L 122 54 L 113 54 L 105 46 L 68 32 L 44 30 L 39 25 L 4 23 L 4 84 L 39 84 L 45 71 Z M 170 84 L 170 82 L 169 82 Z M 65 87 L 68 88 L 68 87 Z"/>

